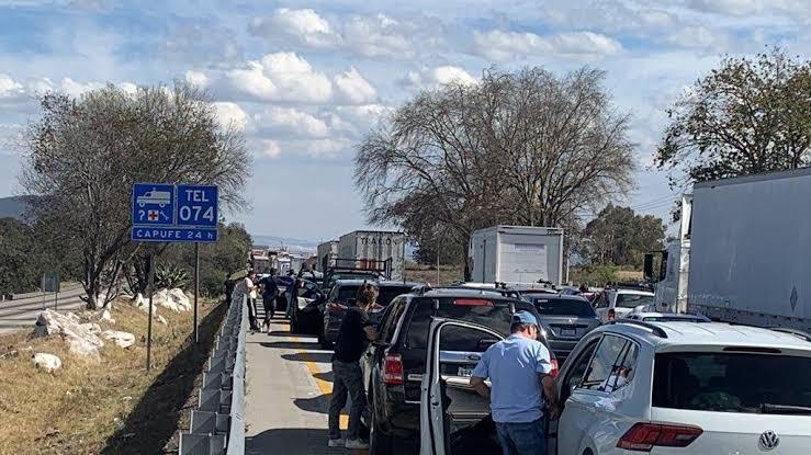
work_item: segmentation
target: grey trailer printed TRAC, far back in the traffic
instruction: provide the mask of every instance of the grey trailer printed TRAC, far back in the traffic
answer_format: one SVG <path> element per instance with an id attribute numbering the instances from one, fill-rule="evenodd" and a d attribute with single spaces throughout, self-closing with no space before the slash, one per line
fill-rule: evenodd
<path id="1" fill-rule="evenodd" d="M 356 230 L 338 239 L 338 268 L 378 270 L 386 278 L 405 276 L 405 234 L 384 230 Z"/>

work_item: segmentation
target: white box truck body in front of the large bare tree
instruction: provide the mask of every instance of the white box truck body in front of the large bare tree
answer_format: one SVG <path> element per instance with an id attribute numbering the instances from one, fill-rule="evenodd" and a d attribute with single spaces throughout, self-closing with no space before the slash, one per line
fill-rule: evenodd
<path id="1" fill-rule="evenodd" d="M 563 229 L 494 226 L 471 235 L 471 280 L 478 283 L 563 282 Z"/>

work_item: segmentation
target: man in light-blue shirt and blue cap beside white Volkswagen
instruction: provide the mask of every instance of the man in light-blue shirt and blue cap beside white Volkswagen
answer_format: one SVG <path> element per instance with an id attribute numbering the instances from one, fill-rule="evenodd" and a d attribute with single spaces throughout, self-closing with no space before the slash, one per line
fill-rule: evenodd
<path id="1" fill-rule="evenodd" d="M 491 400 L 504 455 L 544 455 L 544 396 L 548 417 L 555 420 L 560 413 L 549 350 L 538 341 L 538 320 L 529 311 L 512 315 L 510 331 L 482 355 L 471 386 Z M 484 382 L 488 377 L 492 388 Z"/>

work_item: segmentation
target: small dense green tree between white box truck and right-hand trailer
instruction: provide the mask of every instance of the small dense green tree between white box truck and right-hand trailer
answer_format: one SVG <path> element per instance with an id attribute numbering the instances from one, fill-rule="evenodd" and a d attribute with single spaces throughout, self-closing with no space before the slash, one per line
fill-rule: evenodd
<path id="1" fill-rule="evenodd" d="M 642 266 L 647 251 L 664 248 L 662 218 L 609 204 L 583 231 L 581 254 L 593 265 Z"/>

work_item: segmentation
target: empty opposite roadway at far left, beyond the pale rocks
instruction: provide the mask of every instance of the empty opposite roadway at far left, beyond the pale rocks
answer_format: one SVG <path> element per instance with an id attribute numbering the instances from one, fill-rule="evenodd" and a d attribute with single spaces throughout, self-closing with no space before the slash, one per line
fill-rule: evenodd
<path id="1" fill-rule="evenodd" d="M 59 299 L 56 303 L 59 310 L 75 310 L 85 306 L 85 303 L 79 298 L 85 294 L 80 285 L 66 285 L 63 289 L 64 292 L 59 293 Z M 0 334 L 33 328 L 40 311 L 45 308 L 53 309 L 54 305 L 53 294 L 46 295 L 45 298 L 40 296 L 0 302 Z"/>

